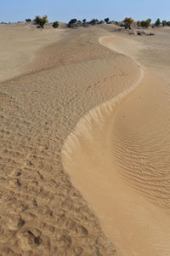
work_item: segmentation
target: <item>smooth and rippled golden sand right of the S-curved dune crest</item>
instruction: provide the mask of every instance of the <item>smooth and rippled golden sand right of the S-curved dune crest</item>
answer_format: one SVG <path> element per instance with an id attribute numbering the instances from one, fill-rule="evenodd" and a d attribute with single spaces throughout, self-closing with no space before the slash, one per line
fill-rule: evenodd
<path id="1" fill-rule="evenodd" d="M 170 254 L 169 30 L 156 32 L 99 39 L 130 56 L 143 76 L 90 111 L 63 148 L 72 182 L 121 255 Z"/>

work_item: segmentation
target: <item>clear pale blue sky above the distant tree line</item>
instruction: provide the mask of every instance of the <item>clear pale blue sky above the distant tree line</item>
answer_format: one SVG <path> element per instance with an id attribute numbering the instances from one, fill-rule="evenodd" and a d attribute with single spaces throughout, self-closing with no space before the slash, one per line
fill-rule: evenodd
<path id="1" fill-rule="evenodd" d="M 170 0 L 0 0 L 0 22 L 33 19 L 48 15 L 49 21 L 68 22 L 72 18 L 92 20 L 170 20 Z"/>

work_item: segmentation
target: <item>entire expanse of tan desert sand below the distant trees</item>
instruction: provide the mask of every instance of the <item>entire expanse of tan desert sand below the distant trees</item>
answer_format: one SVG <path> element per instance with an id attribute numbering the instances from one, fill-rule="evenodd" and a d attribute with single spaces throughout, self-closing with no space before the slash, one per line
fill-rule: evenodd
<path id="1" fill-rule="evenodd" d="M 169 255 L 169 31 L 1 25 L 2 255 Z"/>

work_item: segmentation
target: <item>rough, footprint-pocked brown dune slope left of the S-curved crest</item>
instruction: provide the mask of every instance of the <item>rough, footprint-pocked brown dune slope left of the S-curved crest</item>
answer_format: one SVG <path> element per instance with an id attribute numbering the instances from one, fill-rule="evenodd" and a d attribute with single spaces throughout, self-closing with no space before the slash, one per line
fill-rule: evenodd
<path id="1" fill-rule="evenodd" d="M 78 119 L 138 80 L 139 67 L 99 44 L 98 38 L 109 34 L 104 29 L 65 31 L 64 38 L 55 32 L 42 32 L 50 44 L 38 49 L 24 73 L 0 86 L 0 251 L 115 255 L 99 219 L 63 169 L 61 148 Z M 35 49 L 39 32 L 29 35 Z M 13 51 L 20 42 L 9 46 Z"/>

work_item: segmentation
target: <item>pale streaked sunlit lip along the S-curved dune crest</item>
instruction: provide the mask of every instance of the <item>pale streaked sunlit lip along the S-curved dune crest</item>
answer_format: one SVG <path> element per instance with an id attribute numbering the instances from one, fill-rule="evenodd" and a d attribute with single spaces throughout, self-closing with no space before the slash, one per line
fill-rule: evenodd
<path id="1" fill-rule="evenodd" d="M 103 44 L 102 39 L 105 38 L 111 38 L 111 36 L 99 38 L 99 43 Z M 105 46 L 105 44 L 103 45 Z M 119 51 L 119 53 L 122 54 L 121 51 Z M 133 60 L 133 58 L 131 57 L 130 59 Z M 94 125 L 99 125 L 99 130 L 102 130 L 102 124 L 105 123 L 105 119 L 108 119 L 109 116 L 113 115 L 113 112 L 116 110 L 118 105 L 125 99 L 125 97 L 129 96 L 130 93 L 132 93 L 133 90 L 135 90 L 139 86 L 141 80 L 144 78 L 144 67 L 142 67 L 139 62 L 134 62 L 140 70 L 139 79 L 131 84 L 129 88 L 122 91 L 117 96 L 114 96 L 111 100 L 103 102 L 99 106 L 91 109 L 77 122 L 74 131 L 69 134 L 62 147 L 62 159 L 64 163 L 65 161 L 68 162 L 69 160 L 71 160 L 72 150 L 74 150 L 74 148 L 80 147 L 79 137 L 86 137 L 88 141 L 92 142 L 94 137 L 92 136 L 91 132 L 94 130 Z"/>

